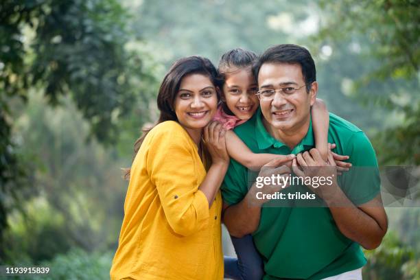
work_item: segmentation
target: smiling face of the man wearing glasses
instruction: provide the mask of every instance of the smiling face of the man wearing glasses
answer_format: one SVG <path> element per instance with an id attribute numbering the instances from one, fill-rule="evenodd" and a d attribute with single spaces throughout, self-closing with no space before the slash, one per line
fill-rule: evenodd
<path id="1" fill-rule="evenodd" d="M 299 88 L 305 85 L 301 65 L 284 63 L 264 63 L 258 74 L 259 90 Z M 261 97 L 259 104 L 264 118 L 277 130 L 292 132 L 299 130 L 310 117 L 310 106 L 316 99 L 317 84 L 312 84 L 310 93 L 306 87 L 288 94 L 276 91 L 271 100 Z"/>

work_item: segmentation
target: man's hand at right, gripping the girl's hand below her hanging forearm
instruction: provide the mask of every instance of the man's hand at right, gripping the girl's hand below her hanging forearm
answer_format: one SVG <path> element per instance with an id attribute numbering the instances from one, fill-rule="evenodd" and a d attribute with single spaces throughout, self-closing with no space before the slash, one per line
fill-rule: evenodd
<path id="1" fill-rule="evenodd" d="M 292 162 L 292 170 L 296 176 L 311 178 L 311 182 L 317 182 L 318 187 L 307 186 L 325 202 L 334 198 L 338 191 L 337 184 L 337 170 L 331 152 L 328 153 L 327 162 L 320 156 L 320 152 L 316 148 L 311 149 L 309 152 L 298 154 L 296 159 Z M 318 177 L 318 178 L 316 178 Z M 328 180 L 320 180 L 320 178 L 331 178 L 332 184 Z"/>

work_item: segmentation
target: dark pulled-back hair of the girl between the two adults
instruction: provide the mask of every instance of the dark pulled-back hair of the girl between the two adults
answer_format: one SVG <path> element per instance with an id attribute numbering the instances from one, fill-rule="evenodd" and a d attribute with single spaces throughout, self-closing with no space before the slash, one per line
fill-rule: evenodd
<path id="1" fill-rule="evenodd" d="M 222 86 L 226 80 L 226 74 L 235 73 L 235 71 L 238 69 L 249 67 L 250 75 L 253 75 L 251 67 L 257 58 L 258 56 L 255 54 L 255 52 L 241 48 L 231 49 L 230 51 L 226 51 L 226 53 L 222 54 L 218 66 L 218 73 L 222 83 L 220 88 L 222 89 Z M 225 102 L 222 102 L 221 105 L 224 112 L 228 113 L 229 115 L 233 115 Z"/>

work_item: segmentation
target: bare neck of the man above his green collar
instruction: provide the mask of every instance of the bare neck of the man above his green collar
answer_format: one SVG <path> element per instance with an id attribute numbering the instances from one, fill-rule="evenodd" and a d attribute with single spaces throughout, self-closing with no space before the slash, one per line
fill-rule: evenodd
<path id="1" fill-rule="evenodd" d="M 299 144 L 302 139 L 307 135 L 307 131 L 310 127 L 310 115 L 307 116 L 307 118 L 301 123 L 297 124 L 294 128 L 291 128 L 290 130 L 279 130 L 277 128 L 272 127 L 270 124 L 268 124 L 268 121 L 266 119 L 262 119 L 264 126 L 266 127 L 266 130 L 272 137 L 275 139 L 281 141 L 281 143 L 285 143 L 290 150 L 293 150 L 294 147 L 296 147 L 297 144 Z"/>

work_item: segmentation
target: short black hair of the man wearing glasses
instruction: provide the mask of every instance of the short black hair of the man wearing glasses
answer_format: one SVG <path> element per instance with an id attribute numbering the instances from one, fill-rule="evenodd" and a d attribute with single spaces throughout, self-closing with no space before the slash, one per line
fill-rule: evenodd
<path id="1" fill-rule="evenodd" d="M 310 52 L 304 47 L 292 44 L 282 44 L 270 47 L 261 54 L 253 65 L 253 73 L 258 79 L 259 69 L 264 63 L 287 63 L 301 65 L 306 91 L 309 93 L 312 82 L 316 81 L 315 63 Z"/>

